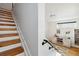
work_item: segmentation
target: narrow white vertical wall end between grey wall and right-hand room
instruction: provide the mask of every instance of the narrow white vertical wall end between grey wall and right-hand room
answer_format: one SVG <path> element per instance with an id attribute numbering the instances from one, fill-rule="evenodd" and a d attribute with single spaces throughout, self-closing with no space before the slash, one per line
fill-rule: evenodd
<path id="1" fill-rule="evenodd" d="M 38 4 L 38 55 L 47 55 L 47 48 L 42 46 L 43 39 L 45 38 L 45 4 Z"/>

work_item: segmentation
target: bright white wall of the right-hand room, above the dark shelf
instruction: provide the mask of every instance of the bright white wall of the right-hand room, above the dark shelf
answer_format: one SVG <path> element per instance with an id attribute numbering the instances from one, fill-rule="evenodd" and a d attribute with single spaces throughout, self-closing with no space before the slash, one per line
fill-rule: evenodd
<path id="1" fill-rule="evenodd" d="M 56 32 L 56 21 L 79 18 L 79 4 L 48 3 L 46 4 L 47 36 L 52 37 Z M 54 16 L 50 16 L 54 15 Z"/>

